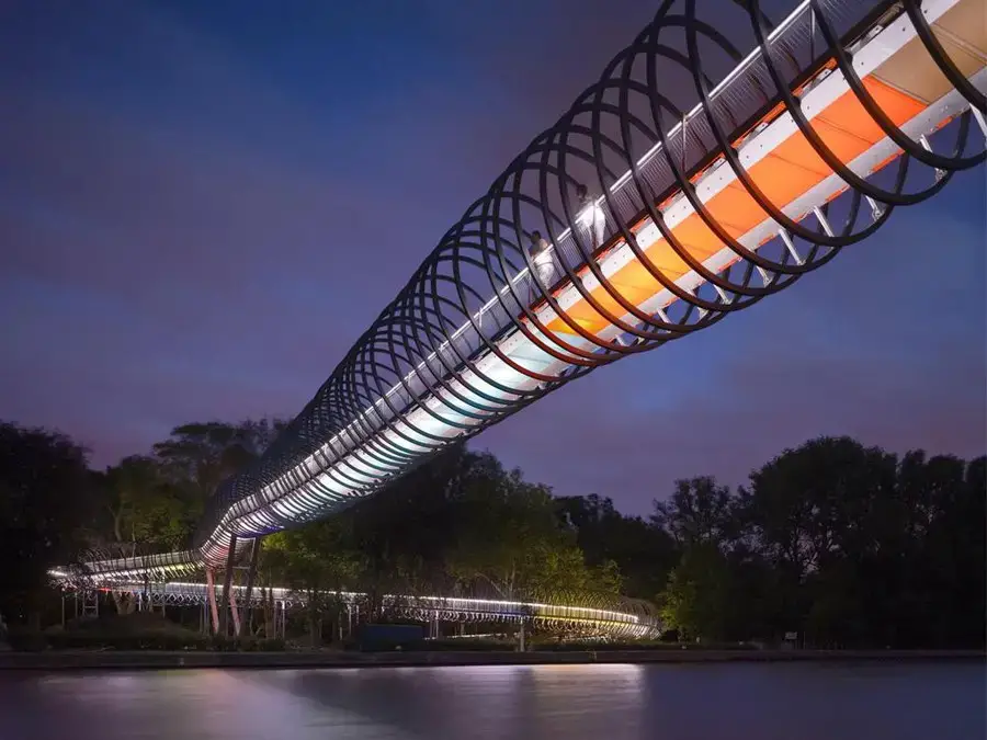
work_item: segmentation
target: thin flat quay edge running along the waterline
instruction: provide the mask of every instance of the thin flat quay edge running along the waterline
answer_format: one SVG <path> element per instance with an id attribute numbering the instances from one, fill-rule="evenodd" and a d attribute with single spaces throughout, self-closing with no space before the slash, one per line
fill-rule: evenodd
<path id="1" fill-rule="evenodd" d="M 983 650 L 601 650 L 566 652 L 0 652 L 0 670 L 161 670 L 192 668 L 371 668 L 422 665 L 581 665 L 791 661 L 984 661 Z"/>

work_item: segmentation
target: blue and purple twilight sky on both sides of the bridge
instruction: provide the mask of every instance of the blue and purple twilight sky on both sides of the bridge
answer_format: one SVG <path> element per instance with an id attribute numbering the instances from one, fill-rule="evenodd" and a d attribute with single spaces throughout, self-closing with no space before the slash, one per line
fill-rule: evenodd
<path id="1" fill-rule="evenodd" d="M 0 419 L 102 466 L 293 415 L 656 4 L 0 3 Z M 980 169 L 474 446 L 639 513 L 819 434 L 983 454 L 985 236 Z"/>

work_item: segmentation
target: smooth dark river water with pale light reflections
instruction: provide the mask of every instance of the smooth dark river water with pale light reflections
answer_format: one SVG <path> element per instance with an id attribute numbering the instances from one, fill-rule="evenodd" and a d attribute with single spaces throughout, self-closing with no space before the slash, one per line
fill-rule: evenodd
<path id="1" fill-rule="evenodd" d="M 0 740 L 980 740 L 985 665 L 0 672 Z"/>

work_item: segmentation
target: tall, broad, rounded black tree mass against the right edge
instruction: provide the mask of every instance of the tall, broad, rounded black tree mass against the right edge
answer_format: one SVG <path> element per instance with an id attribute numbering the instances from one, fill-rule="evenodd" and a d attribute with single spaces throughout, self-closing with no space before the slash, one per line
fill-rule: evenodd
<path id="1" fill-rule="evenodd" d="M 736 510 L 745 545 L 770 568 L 763 623 L 816 645 L 982 644 L 977 469 L 822 437 L 752 473 Z"/>

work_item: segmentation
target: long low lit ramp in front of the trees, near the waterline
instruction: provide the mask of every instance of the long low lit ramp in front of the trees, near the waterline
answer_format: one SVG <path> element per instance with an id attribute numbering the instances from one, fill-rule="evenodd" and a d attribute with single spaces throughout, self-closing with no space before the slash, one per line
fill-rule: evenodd
<path id="1" fill-rule="evenodd" d="M 63 580 L 65 573 L 54 573 L 56 580 Z M 208 591 L 212 588 L 214 597 L 222 599 L 220 587 L 191 581 L 103 581 L 95 588 L 106 592 L 127 593 L 147 600 L 155 605 L 201 605 L 207 606 Z M 239 608 L 247 606 L 246 587 L 234 585 L 230 596 Z M 322 596 L 332 596 L 340 605 L 359 608 L 365 603 L 366 594 L 352 592 L 325 592 Z M 291 606 L 303 606 L 307 603 L 304 592 L 284 588 L 252 589 L 249 592 L 250 606 L 263 606 L 264 599 Z M 455 596 L 402 596 L 385 595 L 382 606 L 390 614 L 429 622 L 527 622 L 552 630 L 578 631 L 606 636 L 611 638 L 657 638 L 660 634 L 659 623 L 650 613 L 649 605 L 628 599 L 598 597 L 593 605 L 547 604 L 542 602 L 521 602 L 497 599 L 465 599 Z"/>

